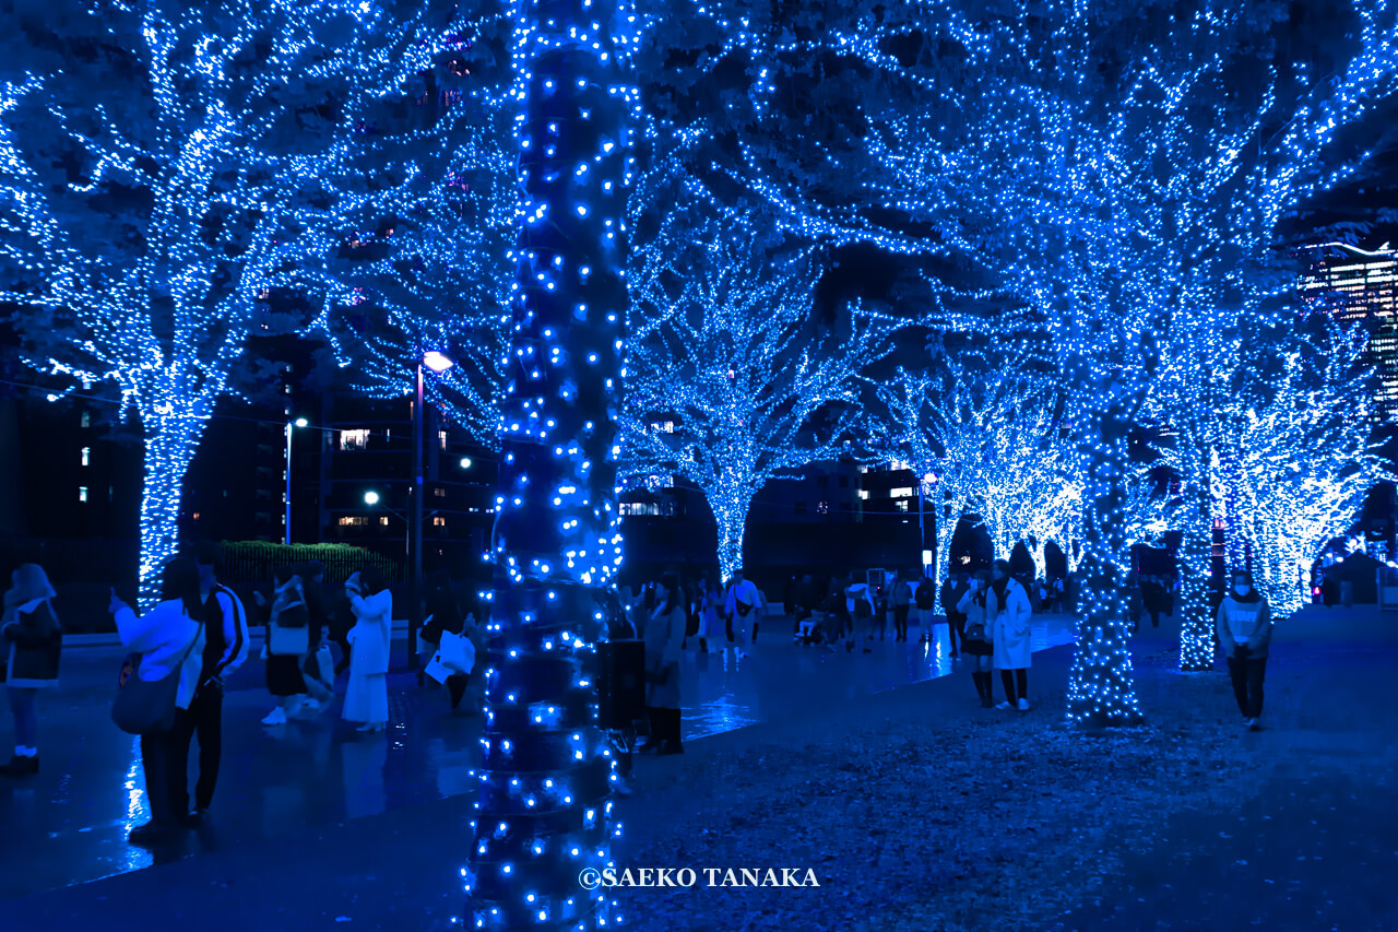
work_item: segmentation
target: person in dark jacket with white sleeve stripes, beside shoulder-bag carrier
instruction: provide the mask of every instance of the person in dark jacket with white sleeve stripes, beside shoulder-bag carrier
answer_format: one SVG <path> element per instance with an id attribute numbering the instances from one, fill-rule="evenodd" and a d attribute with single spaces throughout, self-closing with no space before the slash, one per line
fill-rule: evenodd
<path id="1" fill-rule="evenodd" d="M 218 544 L 201 543 L 194 549 L 199 571 L 199 595 L 204 600 L 204 658 L 199 689 L 189 704 L 189 728 L 180 733 L 183 746 L 175 754 L 189 758 L 189 744 L 199 740 L 199 778 L 194 781 L 194 810 L 189 812 L 189 778 L 175 777 L 172 796 L 176 812 L 190 821 L 201 821 L 214 802 L 218 768 L 224 760 L 224 683 L 247 659 L 250 635 L 247 612 L 232 589 L 219 582 L 224 554 Z"/>

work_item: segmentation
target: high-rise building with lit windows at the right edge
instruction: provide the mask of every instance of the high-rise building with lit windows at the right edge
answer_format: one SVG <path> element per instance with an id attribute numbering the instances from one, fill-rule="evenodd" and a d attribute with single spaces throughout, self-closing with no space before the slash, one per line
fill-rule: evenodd
<path id="1" fill-rule="evenodd" d="M 1378 375 L 1374 417 L 1398 425 L 1398 250 L 1329 242 L 1314 248 L 1316 263 L 1302 276 L 1302 298 L 1341 323 L 1363 323 L 1369 358 Z"/>

